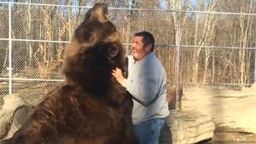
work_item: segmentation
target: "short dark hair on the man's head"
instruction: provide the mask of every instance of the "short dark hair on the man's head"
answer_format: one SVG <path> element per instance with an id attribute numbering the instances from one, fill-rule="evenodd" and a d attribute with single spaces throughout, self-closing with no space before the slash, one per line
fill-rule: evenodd
<path id="1" fill-rule="evenodd" d="M 154 36 L 150 32 L 137 32 L 133 35 L 134 37 L 143 37 L 143 46 L 147 46 L 148 44 L 152 45 L 151 51 L 154 51 Z"/>

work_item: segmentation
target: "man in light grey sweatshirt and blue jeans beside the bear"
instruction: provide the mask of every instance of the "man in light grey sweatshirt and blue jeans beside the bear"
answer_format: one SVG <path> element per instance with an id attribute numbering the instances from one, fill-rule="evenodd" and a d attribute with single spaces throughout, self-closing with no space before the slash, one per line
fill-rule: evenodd
<path id="1" fill-rule="evenodd" d="M 113 77 L 133 96 L 132 123 L 141 144 L 159 144 L 160 130 L 169 114 L 166 72 L 154 55 L 150 32 L 135 33 L 128 56 L 128 78 L 119 68 Z"/>

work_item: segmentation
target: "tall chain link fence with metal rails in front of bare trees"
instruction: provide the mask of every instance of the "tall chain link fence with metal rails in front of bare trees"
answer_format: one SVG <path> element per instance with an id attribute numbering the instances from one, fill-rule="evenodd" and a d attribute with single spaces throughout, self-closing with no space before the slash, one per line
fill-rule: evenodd
<path id="1" fill-rule="evenodd" d="M 61 84 L 63 56 L 89 7 L 0 2 L 0 106 L 20 94 L 35 104 Z M 256 14 L 109 8 L 127 54 L 152 32 L 169 84 L 239 89 L 254 83 Z"/>

